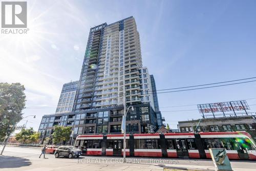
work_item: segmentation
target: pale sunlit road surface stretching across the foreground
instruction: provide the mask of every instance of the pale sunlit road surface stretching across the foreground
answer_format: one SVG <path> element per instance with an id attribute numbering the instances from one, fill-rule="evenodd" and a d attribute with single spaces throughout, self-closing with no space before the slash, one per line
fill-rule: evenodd
<path id="1" fill-rule="evenodd" d="M 0 145 L 0 150 L 2 150 Z M 160 171 L 163 168 L 214 170 L 211 160 L 195 159 L 159 159 L 159 158 L 126 158 L 121 157 L 81 156 L 80 158 L 55 158 L 46 154 L 46 159 L 38 158 L 40 148 L 7 146 L 0 156 L 0 170 L 146 170 Z M 233 170 L 256 170 L 255 161 L 231 161 Z"/>

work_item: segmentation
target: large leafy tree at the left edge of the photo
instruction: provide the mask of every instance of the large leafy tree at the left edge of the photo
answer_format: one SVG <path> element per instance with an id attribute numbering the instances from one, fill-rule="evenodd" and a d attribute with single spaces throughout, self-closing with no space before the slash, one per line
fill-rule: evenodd
<path id="1" fill-rule="evenodd" d="M 20 83 L 0 83 L 0 139 L 9 135 L 12 125 L 22 120 L 25 88 Z"/>

